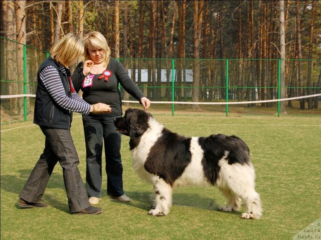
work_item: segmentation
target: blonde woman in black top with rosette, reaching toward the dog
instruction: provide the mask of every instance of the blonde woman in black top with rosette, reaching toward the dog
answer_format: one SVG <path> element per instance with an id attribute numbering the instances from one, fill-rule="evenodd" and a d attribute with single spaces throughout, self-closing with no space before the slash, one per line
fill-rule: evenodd
<path id="1" fill-rule="evenodd" d="M 117 60 L 110 57 L 106 38 L 99 32 L 91 32 L 84 38 L 85 54 L 83 62 L 76 67 L 72 81 L 75 90 L 83 91 L 83 99 L 94 104 L 103 102 L 110 105 L 111 113 L 83 114 L 86 144 L 86 188 L 89 203 L 98 204 L 102 185 L 102 149 L 104 145 L 107 195 L 112 200 L 128 202 L 124 194 L 120 156 L 121 135 L 116 132 L 113 118 L 122 115 L 120 84 L 136 98 L 145 109 L 150 105 L 128 72 Z"/>

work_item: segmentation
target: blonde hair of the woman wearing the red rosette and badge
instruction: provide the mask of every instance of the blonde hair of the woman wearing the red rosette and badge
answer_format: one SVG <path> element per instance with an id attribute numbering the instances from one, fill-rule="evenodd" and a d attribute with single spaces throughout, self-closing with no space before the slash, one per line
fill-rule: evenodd
<path id="1" fill-rule="evenodd" d="M 85 53 L 83 56 L 83 63 L 86 60 L 91 60 L 89 53 L 88 53 L 88 47 L 89 44 L 91 44 L 94 48 L 98 48 L 98 49 L 103 49 L 105 50 L 105 61 L 104 63 L 106 65 L 108 65 L 109 63 L 109 56 L 110 56 L 110 48 L 108 46 L 107 40 L 104 37 L 104 35 L 102 35 L 99 32 L 93 31 L 88 33 L 85 38 L 84 38 L 84 45 L 85 45 Z"/>

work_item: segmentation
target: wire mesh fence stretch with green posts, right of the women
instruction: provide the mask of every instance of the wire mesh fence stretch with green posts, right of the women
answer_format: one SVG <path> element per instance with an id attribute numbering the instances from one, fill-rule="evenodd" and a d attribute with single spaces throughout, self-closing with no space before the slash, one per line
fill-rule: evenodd
<path id="1" fill-rule="evenodd" d="M 293 98 L 320 92 L 321 61 L 285 61 L 284 87 L 279 87 L 279 60 L 258 59 L 121 59 L 133 81 L 152 102 L 179 101 L 176 104 L 152 103 L 150 111 L 165 114 L 206 115 L 275 115 L 280 108 L 276 101 L 242 103 Z M 308 65 L 313 66 L 308 78 Z M 309 83 L 310 82 L 310 83 Z M 309 87 L 309 84 L 311 85 Z M 122 99 L 135 100 L 121 89 Z M 282 114 L 321 115 L 319 96 L 282 101 Z M 240 102 L 222 105 L 215 102 Z M 308 103 L 311 101 L 312 103 Z M 186 102 L 186 103 L 184 103 Z M 189 104 L 190 102 L 200 102 Z M 212 102 L 213 104 L 203 104 Z M 303 102 L 303 107 L 300 106 Z M 125 103 L 126 107 L 141 107 Z M 302 108 L 302 109 L 300 109 Z M 307 109 L 310 108 L 310 109 Z"/>

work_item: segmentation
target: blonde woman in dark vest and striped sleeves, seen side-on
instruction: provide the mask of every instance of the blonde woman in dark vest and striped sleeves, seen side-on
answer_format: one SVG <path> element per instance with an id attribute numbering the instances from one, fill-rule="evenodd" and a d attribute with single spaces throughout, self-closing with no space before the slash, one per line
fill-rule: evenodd
<path id="1" fill-rule="evenodd" d="M 73 34 L 67 34 L 51 49 L 37 73 L 37 93 L 34 123 L 45 135 L 45 149 L 34 167 L 20 194 L 20 208 L 48 206 L 41 202 L 49 178 L 59 162 L 63 169 L 64 183 L 72 214 L 98 214 L 100 207 L 89 204 L 80 172 L 79 158 L 71 137 L 72 111 L 89 113 L 110 113 L 110 106 L 104 103 L 89 104 L 74 90 L 69 65 L 83 54 L 82 41 Z"/>

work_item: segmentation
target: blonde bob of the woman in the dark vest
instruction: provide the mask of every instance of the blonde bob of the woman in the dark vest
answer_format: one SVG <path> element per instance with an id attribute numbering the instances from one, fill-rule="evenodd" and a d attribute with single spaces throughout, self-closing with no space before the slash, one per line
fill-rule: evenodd
<path id="1" fill-rule="evenodd" d="M 50 49 L 51 58 L 68 68 L 84 54 L 84 44 L 72 33 L 66 34 Z"/>

